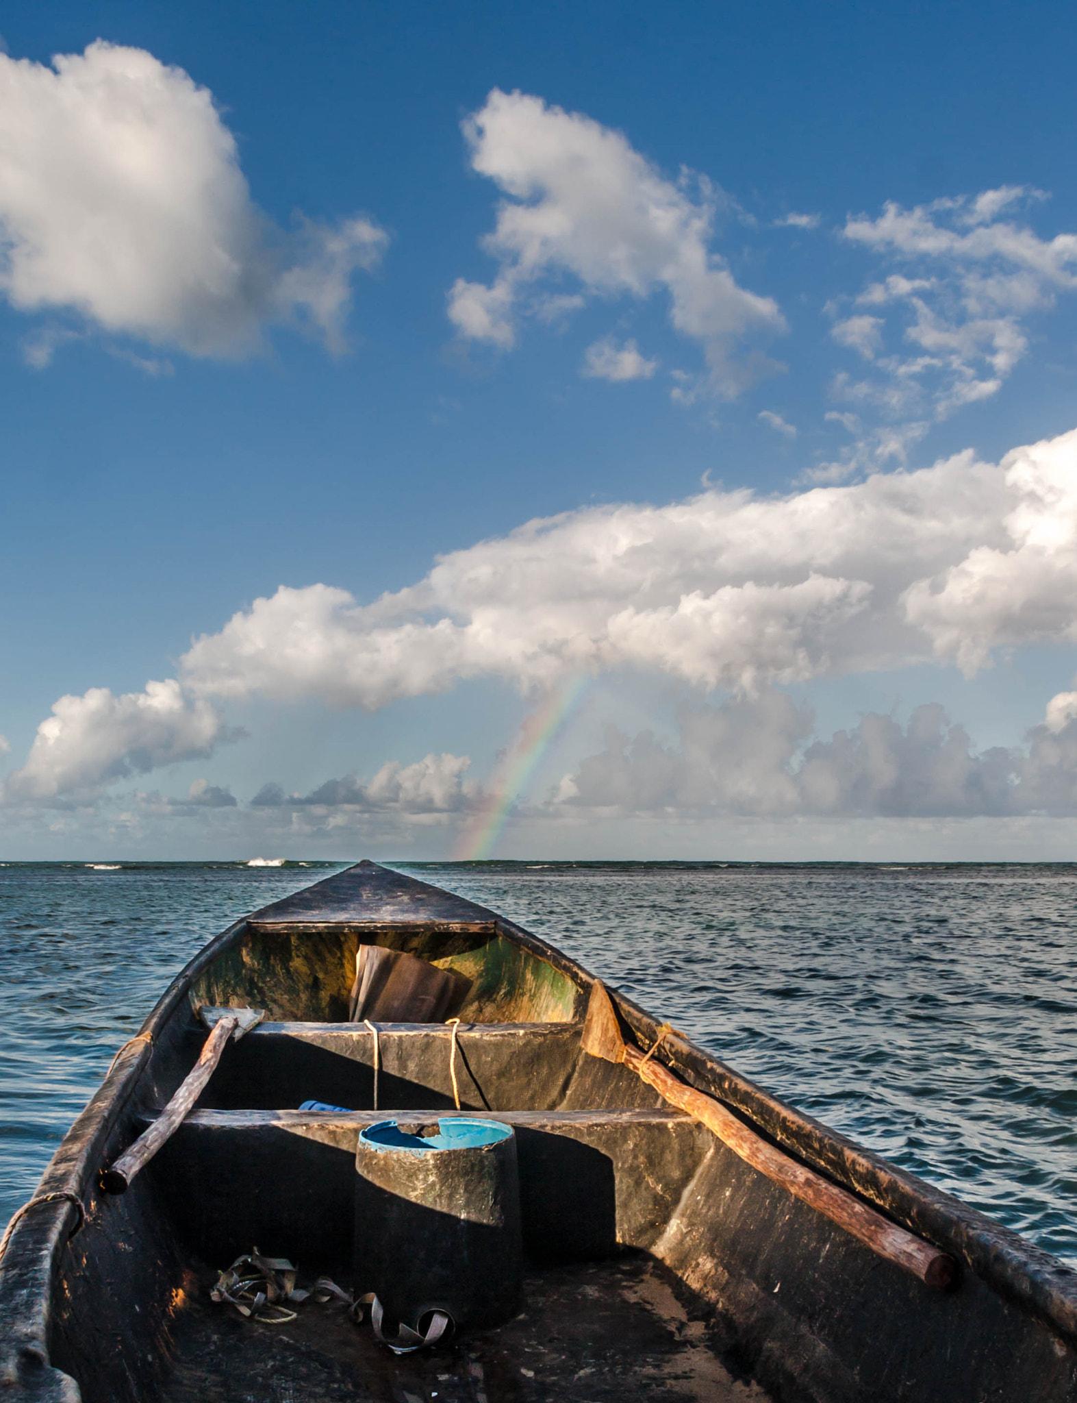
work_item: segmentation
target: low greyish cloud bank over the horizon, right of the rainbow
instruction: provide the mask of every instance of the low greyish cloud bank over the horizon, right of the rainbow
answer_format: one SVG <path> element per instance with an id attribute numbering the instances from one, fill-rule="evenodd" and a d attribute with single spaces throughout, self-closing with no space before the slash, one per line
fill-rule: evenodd
<path id="1" fill-rule="evenodd" d="M 812 739 L 811 707 L 783 692 L 684 709 L 675 746 L 607 727 L 606 746 L 565 776 L 557 801 L 617 814 L 697 818 L 972 818 L 1077 814 L 1077 696 L 1063 693 L 1027 746 L 977 753 L 938 703 L 905 727 L 869 711 Z M 1064 714 L 1062 724 L 1060 713 Z M 1066 714 L 1069 713 L 1069 714 Z"/>

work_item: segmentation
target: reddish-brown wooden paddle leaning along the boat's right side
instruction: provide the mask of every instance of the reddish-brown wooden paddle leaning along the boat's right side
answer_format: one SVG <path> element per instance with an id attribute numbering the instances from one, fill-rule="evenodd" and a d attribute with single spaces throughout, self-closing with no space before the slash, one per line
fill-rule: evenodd
<path id="1" fill-rule="evenodd" d="M 604 1058 L 607 1062 L 623 1062 L 631 1068 L 644 1082 L 653 1086 L 663 1100 L 701 1121 L 760 1174 L 766 1174 L 797 1198 L 811 1204 L 878 1256 L 896 1263 L 930 1287 L 945 1289 L 955 1284 L 956 1263 L 945 1251 L 889 1222 L 882 1214 L 868 1208 L 806 1164 L 790 1159 L 749 1129 L 721 1101 L 682 1082 L 658 1058 L 646 1058 L 639 1048 L 625 1044 L 613 1002 L 597 979 L 590 991 L 582 1047 L 592 1056 Z"/>

